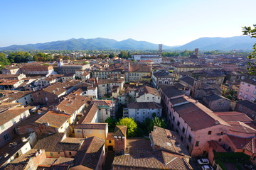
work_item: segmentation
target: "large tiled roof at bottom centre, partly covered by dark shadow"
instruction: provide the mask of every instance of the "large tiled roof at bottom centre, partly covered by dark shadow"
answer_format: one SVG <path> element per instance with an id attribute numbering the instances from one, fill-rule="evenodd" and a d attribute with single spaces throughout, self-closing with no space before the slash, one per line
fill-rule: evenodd
<path id="1" fill-rule="evenodd" d="M 126 153 L 114 157 L 112 169 L 193 169 L 183 157 L 154 151 L 149 140 L 127 140 Z"/>

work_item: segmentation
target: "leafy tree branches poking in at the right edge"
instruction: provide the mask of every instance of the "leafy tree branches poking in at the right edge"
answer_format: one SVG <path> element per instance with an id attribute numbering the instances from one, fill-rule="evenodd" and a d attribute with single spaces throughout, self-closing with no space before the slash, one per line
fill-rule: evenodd
<path id="1" fill-rule="evenodd" d="M 256 38 L 256 24 L 253 25 L 254 28 L 249 27 L 242 27 L 242 33 L 243 35 L 249 35 L 251 38 Z M 256 74 L 256 43 L 255 45 L 252 46 L 252 52 L 250 55 L 247 57 L 250 61 L 247 63 L 248 64 L 248 72 L 250 74 Z"/>

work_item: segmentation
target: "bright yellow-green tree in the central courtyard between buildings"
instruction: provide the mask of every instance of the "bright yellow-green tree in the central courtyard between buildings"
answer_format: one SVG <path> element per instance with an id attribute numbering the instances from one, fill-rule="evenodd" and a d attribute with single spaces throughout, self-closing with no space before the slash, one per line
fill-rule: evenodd
<path id="1" fill-rule="evenodd" d="M 127 137 L 134 137 L 137 135 L 137 123 L 133 118 L 122 118 L 117 125 L 125 125 L 127 127 Z"/>

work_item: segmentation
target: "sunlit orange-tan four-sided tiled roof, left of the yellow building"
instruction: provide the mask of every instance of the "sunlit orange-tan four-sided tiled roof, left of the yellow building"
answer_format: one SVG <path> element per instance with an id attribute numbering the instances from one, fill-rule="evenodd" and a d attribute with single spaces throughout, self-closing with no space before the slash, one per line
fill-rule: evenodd
<path id="1" fill-rule="evenodd" d="M 58 113 L 55 111 L 48 111 L 41 118 L 36 120 L 36 123 L 49 123 L 49 126 L 53 128 L 60 128 L 68 119 L 70 115 L 66 115 L 63 113 Z"/>

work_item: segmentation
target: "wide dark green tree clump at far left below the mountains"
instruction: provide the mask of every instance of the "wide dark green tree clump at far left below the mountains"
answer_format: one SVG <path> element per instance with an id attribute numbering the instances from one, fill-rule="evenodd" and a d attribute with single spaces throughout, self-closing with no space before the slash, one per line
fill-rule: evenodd
<path id="1" fill-rule="evenodd" d="M 10 60 L 10 62 L 16 63 L 33 61 L 33 57 L 28 52 L 11 52 L 8 55 L 8 59 Z"/>

